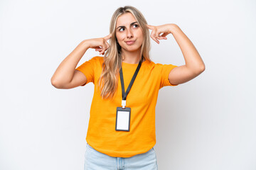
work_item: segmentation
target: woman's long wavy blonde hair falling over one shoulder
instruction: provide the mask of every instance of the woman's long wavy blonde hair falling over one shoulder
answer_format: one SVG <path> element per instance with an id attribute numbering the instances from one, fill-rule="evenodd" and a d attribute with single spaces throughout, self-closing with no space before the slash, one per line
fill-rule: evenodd
<path id="1" fill-rule="evenodd" d="M 142 28 L 142 33 L 144 40 L 141 47 L 141 56 L 145 60 L 149 60 L 150 51 L 150 36 L 149 28 L 146 27 L 146 19 L 142 13 L 133 6 L 124 6 L 117 8 L 110 22 L 110 33 L 112 33 L 112 38 L 110 38 L 110 47 L 107 49 L 104 55 L 104 62 L 102 63 L 102 74 L 100 75 L 98 86 L 100 87 L 100 96 L 102 98 L 112 98 L 117 91 L 119 69 L 122 66 L 122 47 L 119 45 L 115 28 L 117 24 L 117 18 L 124 13 L 132 13 L 134 18 L 137 20 L 139 27 Z M 142 59 L 141 58 L 141 59 Z"/>

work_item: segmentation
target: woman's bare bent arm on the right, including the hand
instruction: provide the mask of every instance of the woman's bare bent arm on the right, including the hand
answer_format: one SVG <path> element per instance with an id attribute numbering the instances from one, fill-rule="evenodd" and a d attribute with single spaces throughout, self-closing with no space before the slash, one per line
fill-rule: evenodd
<path id="1" fill-rule="evenodd" d="M 159 40 L 166 40 L 166 35 L 170 33 L 174 35 L 178 46 L 181 48 L 183 57 L 186 64 L 171 69 L 169 73 L 169 81 L 171 84 L 183 84 L 189 81 L 205 70 L 205 64 L 201 59 L 196 47 L 193 46 L 191 40 L 182 32 L 174 23 L 165 24 L 162 26 L 150 26 L 146 25 L 152 30 L 151 38 L 159 44 Z M 161 33 L 163 33 L 161 35 Z"/>

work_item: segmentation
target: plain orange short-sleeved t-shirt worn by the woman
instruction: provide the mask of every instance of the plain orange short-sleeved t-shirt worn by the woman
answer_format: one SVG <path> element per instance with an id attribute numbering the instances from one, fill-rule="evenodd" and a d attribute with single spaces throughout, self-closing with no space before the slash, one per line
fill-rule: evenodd
<path id="1" fill-rule="evenodd" d="M 164 86 L 177 86 L 170 84 L 169 81 L 171 69 L 177 66 L 155 64 L 149 60 L 142 62 L 127 95 L 126 107 L 131 108 L 131 118 L 130 130 L 125 132 L 115 130 L 117 107 L 122 107 L 120 77 L 117 92 L 112 99 L 102 99 L 100 88 L 96 88 L 102 73 L 103 61 L 103 57 L 92 57 L 76 68 L 85 74 L 86 84 L 95 84 L 86 141 L 95 150 L 110 157 L 132 157 L 148 152 L 156 144 L 155 108 L 159 89 Z M 124 91 L 127 91 L 137 66 L 138 64 L 122 62 Z"/>

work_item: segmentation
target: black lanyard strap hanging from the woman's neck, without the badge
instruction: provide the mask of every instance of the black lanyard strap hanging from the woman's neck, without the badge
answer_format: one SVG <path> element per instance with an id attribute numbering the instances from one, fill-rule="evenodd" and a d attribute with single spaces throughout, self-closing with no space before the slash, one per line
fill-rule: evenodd
<path id="1" fill-rule="evenodd" d="M 130 81 L 129 83 L 129 86 L 127 88 L 127 91 L 124 93 L 124 77 L 123 77 L 123 74 L 122 74 L 122 65 L 121 65 L 121 69 L 119 71 L 119 74 L 120 74 L 120 80 L 121 80 L 121 85 L 122 85 L 122 108 L 125 108 L 126 106 L 126 98 L 127 98 L 127 95 L 129 94 L 129 91 L 130 89 L 132 88 L 132 84 L 134 83 L 134 80 L 135 78 L 137 77 L 137 74 L 139 72 L 139 69 L 140 67 L 142 66 L 142 61 L 143 61 L 143 57 L 142 57 L 142 60 L 140 60 L 139 64 L 138 64 L 138 67 L 132 77 L 132 80 Z"/>

